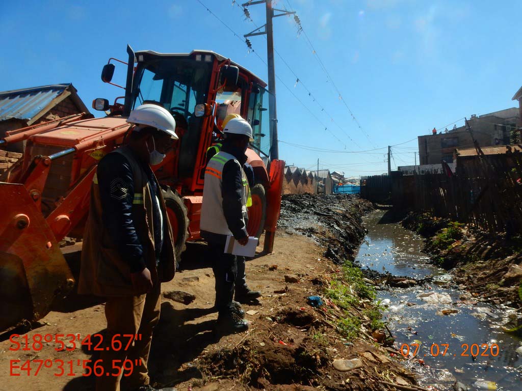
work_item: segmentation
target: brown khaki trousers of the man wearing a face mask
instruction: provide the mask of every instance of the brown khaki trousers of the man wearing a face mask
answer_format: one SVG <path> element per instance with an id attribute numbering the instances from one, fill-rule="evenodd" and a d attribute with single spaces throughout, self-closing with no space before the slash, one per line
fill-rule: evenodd
<path id="1" fill-rule="evenodd" d="M 128 359 L 133 362 L 134 370 L 130 376 L 125 377 L 125 384 L 129 389 L 147 385 L 150 382 L 147 362 L 149 359 L 150 343 L 152 341 L 152 329 L 158 324 L 160 319 L 160 284 L 156 284 L 152 290 L 145 295 L 109 297 L 105 303 L 105 317 L 107 319 L 107 331 L 104 336 L 104 347 L 100 359 L 104 373 L 118 373 L 117 368 L 121 368 L 123 361 Z M 111 341 L 114 335 L 123 347 L 120 350 L 113 350 Z M 128 338 L 123 334 L 140 334 L 141 340 L 135 340 L 134 345 L 124 350 Z M 117 343 L 115 343 L 117 347 Z M 107 350 L 109 348 L 109 350 Z M 120 360 L 120 361 L 116 361 Z M 141 360 L 140 365 L 136 365 L 135 360 Z M 128 365 L 128 364 L 127 364 Z M 96 391 L 119 391 L 120 380 L 128 372 L 123 372 L 120 376 L 99 376 L 96 378 Z"/>

